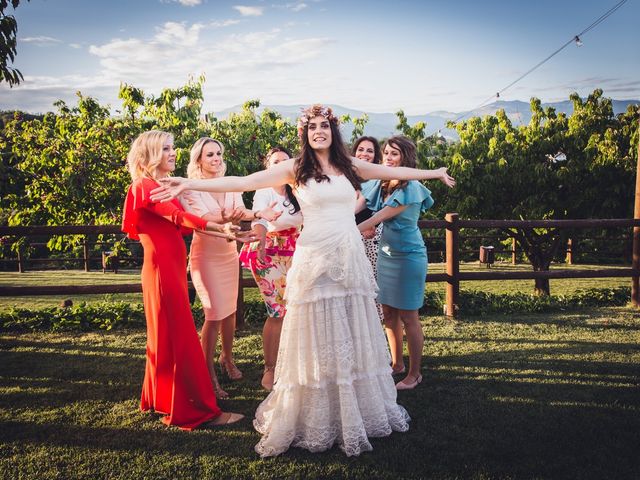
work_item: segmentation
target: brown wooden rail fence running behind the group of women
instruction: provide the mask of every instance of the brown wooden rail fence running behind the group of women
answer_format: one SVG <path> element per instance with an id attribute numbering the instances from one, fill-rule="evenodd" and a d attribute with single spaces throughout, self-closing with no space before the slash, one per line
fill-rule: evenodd
<path id="1" fill-rule="evenodd" d="M 640 288 L 637 287 L 640 279 L 640 220 L 633 219 L 587 219 L 587 220 L 460 220 L 458 214 L 449 213 L 444 220 L 422 220 L 420 228 L 445 229 L 446 244 L 446 271 L 445 273 L 427 274 L 427 282 L 446 282 L 445 314 L 455 316 L 458 312 L 458 298 L 460 282 L 469 280 L 523 280 L 536 278 L 604 278 L 604 277 L 630 277 L 632 279 L 632 302 L 640 305 Z M 629 268 L 602 268 L 589 270 L 554 269 L 550 271 L 483 271 L 460 272 L 460 230 L 464 228 L 624 228 L 633 227 L 633 261 Z M 89 270 L 90 252 L 89 236 L 99 234 L 121 234 L 119 226 L 95 225 L 95 226 L 23 226 L 0 227 L 0 236 L 33 237 L 54 235 L 84 235 L 83 258 L 85 270 Z M 512 255 L 515 255 L 515 246 Z M 18 258 L 20 262 L 20 259 Z M 19 263 L 19 265 L 21 265 Z M 22 271 L 23 268 L 19 266 Z M 244 314 L 244 289 L 255 287 L 253 279 L 242 278 L 240 275 L 240 288 L 238 294 L 238 323 L 243 321 Z M 189 288 L 193 288 L 189 285 Z M 0 296 L 39 296 L 39 295 L 70 295 L 70 294 L 101 294 L 101 293 L 137 293 L 141 292 L 139 284 L 113 284 L 113 285 L 82 285 L 82 286 L 0 286 Z"/>

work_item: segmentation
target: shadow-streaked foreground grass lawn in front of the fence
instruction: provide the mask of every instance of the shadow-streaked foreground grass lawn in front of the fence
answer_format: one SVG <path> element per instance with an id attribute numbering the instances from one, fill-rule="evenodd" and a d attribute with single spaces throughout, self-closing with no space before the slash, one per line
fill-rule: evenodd
<path id="1" fill-rule="evenodd" d="M 261 460 L 250 420 L 183 432 L 138 411 L 144 331 L 0 334 L 0 478 L 640 478 L 640 314 L 424 317 L 407 433 Z M 259 327 L 223 408 L 252 417 Z"/>

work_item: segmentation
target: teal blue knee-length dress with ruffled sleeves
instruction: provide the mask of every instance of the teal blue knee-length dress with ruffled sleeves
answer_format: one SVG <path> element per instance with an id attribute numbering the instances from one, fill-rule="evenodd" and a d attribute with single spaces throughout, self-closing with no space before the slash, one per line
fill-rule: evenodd
<path id="1" fill-rule="evenodd" d="M 428 265 L 418 219 L 433 205 L 431 192 L 420 182 L 411 180 L 385 200 L 380 180 L 375 182 L 365 195 L 371 210 L 407 206 L 402 213 L 383 222 L 378 250 L 378 302 L 401 310 L 417 310 L 424 303 Z"/>

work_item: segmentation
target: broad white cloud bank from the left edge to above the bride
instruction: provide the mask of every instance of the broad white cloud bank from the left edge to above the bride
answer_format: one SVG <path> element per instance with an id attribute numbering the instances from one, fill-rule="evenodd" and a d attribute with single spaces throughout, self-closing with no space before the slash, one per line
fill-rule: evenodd
<path id="1" fill-rule="evenodd" d="M 314 62 L 326 56 L 333 39 L 297 37 L 278 28 L 221 35 L 214 28 L 211 23 L 167 22 L 149 38 L 115 38 L 90 45 L 89 53 L 100 64 L 95 74 L 28 77 L 10 92 L 0 85 L 0 103 L 29 111 L 51 110 L 57 99 L 75 104 L 75 92 L 80 90 L 119 109 L 121 82 L 157 95 L 202 73 L 207 79 L 206 111 L 249 98 L 289 103 L 306 98 L 308 89 L 326 90 L 326 76 L 309 73 L 317 68 Z"/>

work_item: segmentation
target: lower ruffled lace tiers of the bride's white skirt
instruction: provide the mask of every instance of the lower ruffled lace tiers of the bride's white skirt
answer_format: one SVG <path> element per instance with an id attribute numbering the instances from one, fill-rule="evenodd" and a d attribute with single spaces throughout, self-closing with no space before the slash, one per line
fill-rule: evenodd
<path id="1" fill-rule="evenodd" d="M 289 305 L 275 376 L 254 420 L 262 457 L 290 446 L 319 452 L 334 444 L 359 455 L 372 449 L 368 437 L 409 429 L 409 415 L 396 404 L 371 291 Z"/>

